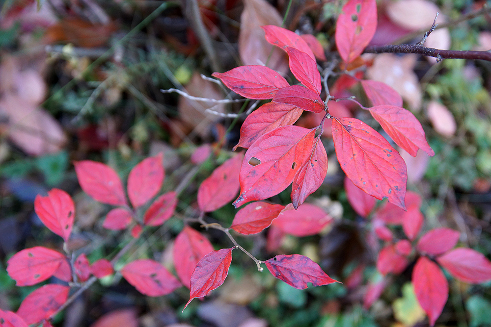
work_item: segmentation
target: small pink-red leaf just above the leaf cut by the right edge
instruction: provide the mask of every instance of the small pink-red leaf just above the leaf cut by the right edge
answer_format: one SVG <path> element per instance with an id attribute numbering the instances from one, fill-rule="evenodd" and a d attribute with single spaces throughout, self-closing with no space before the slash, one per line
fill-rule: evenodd
<path id="1" fill-rule="evenodd" d="M 421 236 L 416 249 L 430 255 L 443 254 L 455 247 L 460 233 L 450 228 L 435 228 Z"/>

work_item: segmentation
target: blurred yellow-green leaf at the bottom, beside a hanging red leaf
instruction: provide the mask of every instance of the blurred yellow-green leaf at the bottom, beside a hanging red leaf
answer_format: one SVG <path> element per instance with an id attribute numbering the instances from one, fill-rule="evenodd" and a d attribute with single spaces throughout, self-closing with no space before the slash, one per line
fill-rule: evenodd
<path id="1" fill-rule="evenodd" d="M 425 311 L 416 300 L 411 283 L 404 284 L 402 295 L 392 303 L 394 317 L 406 326 L 414 326 L 426 317 Z"/>

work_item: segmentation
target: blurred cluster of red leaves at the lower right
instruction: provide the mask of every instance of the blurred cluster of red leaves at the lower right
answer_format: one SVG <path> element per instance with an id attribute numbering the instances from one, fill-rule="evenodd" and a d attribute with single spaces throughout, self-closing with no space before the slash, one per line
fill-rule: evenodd
<path id="1" fill-rule="evenodd" d="M 348 179 L 345 180 L 348 201 L 362 217 L 370 215 L 376 207 L 376 199 L 362 192 Z M 421 197 L 406 194 L 407 211 L 385 203 L 373 213 L 374 233 L 386 244 L 380 250 L 377 270 L 383 275 L 401 274 L 408 267 L 411 258 L 417 256 L 412 270 L 412 285 L 421 307 L 427 313 L 430 324 L 435 325 L 448 299 L 448 282 L 438 264 L 448 273 L 463 282 L 478 284 L 491 280 L 491 262 L 480 252 L 457 248 L 460 233 L 450 228 L 432 229 L 418 235 L 424 224 L 420 211 Z M 397 240 L 387 226 L 402 226 L 408 239 Z M 364 306 L 370 307 L 382 294 L 384 280 L 368 287 Z"/>

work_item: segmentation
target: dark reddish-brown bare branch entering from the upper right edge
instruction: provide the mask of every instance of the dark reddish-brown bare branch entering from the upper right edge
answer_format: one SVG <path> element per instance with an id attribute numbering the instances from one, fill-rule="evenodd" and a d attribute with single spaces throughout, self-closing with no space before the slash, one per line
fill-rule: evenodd
<path id="1" fill-rule="evenodd" d="M 435 57 L 437 61 L 441 59 L 481 59 L 491 61 L 490 51 L 460 51 L 460 50 L 440 50 L 434 48 L 421 47 L 416 45 L 386 45 L 367 47 L 364 53 L 417 53 Z"/>

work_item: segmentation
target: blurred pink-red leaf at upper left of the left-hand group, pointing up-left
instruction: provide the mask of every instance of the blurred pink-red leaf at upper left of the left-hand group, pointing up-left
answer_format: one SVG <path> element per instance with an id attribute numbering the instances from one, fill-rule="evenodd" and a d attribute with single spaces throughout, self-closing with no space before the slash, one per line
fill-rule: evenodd
<path id="1" fill-rule="evenodd" d="M 94 200 L 112 205 L 126 205 L 118 174 L 100 162 L 83 160 L 74 163 L 82 190 Z"/>

